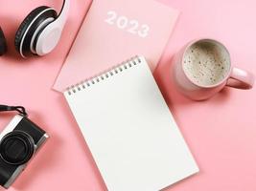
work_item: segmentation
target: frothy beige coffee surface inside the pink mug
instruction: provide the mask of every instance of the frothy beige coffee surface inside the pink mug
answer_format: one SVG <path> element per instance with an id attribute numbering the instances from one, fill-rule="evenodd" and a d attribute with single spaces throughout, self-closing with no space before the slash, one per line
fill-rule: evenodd
<path id="1" fill-rule="evenodd" d="M 199 86 L 218 84 L 228 74 L 229 67 L 229 55 L 225 49 L 208 41 L 192 45 L 183 59 L 185 74 Z"/>

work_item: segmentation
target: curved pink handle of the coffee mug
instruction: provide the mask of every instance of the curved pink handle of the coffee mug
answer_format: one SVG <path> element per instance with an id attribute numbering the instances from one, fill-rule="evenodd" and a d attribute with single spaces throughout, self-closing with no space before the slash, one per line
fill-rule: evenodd
<path id="1" fill-rule="evenodd" d="M 254 75 L 242 69 L 233 68 L 226 82 L 226 86 L 248 90 L 253 87 Z"/>

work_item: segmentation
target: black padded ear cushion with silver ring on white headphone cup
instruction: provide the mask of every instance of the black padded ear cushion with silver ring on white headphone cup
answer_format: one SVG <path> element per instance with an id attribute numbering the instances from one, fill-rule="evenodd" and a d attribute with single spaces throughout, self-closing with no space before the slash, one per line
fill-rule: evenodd
<path id="1" fill-rule="evenodd" d="M 41 6 L 31 11 L 19 26 L 14 45 L 18 53 L 23 57 L 34 53 L 31 51 L 31 41 L 35 37 L 35 32 L 45 27 L 57 18 L 57 12 L 52 8 Z"/>

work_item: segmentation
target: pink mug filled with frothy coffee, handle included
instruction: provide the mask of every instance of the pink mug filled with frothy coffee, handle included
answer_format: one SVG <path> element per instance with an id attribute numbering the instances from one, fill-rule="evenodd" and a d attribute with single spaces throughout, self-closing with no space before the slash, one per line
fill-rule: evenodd
<path id="1" fill-rule="evenodd" d="M 190 42 L 175 55 L 172 75 L 178 90 L 192 99 L 202 100 L 220 92 L 224 86 L 250 89 L 254 76 L 232 67 L 227 49 L 218 41 Z"/>

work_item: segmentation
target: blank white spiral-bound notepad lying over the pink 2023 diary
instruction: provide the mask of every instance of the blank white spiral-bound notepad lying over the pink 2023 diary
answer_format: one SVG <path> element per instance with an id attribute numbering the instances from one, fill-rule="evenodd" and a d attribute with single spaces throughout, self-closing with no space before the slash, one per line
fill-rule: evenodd
<path id="1" fill-rule="evenodd" d="M 156 191 L 198 172 L 143 56 L 64 92 L 109 191 Z"/>

